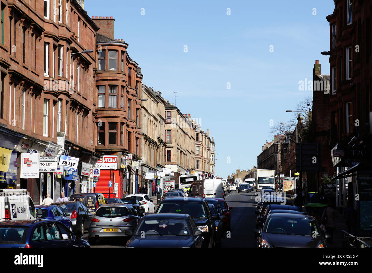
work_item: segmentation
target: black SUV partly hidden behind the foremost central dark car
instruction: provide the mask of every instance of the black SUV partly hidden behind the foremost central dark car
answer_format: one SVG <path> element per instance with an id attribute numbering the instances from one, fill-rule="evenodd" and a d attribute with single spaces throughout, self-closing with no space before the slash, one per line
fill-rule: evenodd
<path id="1" fill-rule="evenodd" d="M 161 201 L 156 213 L 189 214 L 195 221 L 198 229 L 202 231 L 202 247 L 213 247 L 215 244 L 215 223 L 217 215 L 211 214 L 205 198 L 166 198 Z"/>

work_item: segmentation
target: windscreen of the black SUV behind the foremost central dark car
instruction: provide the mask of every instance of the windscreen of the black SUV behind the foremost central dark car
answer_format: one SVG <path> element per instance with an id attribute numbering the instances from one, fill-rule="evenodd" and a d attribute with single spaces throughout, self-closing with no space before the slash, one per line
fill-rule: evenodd
<path id="1" fill-rule="evenodd" d="M 162 202 L 157 213 L 190 214 L 193 218 L 207 218 L 204 205 L 193 202 Z"/>

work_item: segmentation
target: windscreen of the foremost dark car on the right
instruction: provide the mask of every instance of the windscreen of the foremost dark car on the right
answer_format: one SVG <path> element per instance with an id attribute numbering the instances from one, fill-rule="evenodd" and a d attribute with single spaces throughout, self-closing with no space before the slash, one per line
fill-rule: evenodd
<path id="1" fill-rule="evenodd" d="M 270 217 L 265 232 L 301 236 L 319 235 L 314 220 L 292 217 Z"/>

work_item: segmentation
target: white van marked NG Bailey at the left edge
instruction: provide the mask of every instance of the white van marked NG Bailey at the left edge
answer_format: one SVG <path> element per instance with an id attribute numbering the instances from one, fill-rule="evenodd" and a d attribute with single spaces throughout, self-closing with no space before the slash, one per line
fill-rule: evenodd
<path id="1" fill-rule="evenodd" d="M 36 219 L 36 210 L 27 189 L 0 189 L 0 221 L 30 219 Z"/>

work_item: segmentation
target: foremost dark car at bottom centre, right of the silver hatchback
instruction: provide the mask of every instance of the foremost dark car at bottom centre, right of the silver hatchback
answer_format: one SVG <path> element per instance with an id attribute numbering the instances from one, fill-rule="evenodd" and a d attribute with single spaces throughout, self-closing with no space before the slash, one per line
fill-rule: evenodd
<path id="1" fill-rule="evenodd" d="M 202 232 L 188 214 L 147 214 L 132 233 L 126 247 L 201 247 Z"/>

